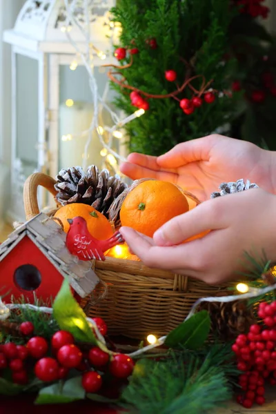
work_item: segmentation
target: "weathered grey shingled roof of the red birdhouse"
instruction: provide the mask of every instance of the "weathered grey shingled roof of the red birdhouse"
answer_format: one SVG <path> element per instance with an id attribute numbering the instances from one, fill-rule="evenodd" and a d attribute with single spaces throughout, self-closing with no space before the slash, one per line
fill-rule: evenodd
<path id="1" fill-rule="evenodd" d="M 28 237 L 47 259 L 67 277 L 72 288 L 81 297 L 86 297 L 99 283 L 99 277 L 91 268 L 91 262 L 83 262 L 66 248 L 66 233 L 47 215 L 40 213 L 14 230 L 0 246 L 0 262 L 12 249 Z"/>

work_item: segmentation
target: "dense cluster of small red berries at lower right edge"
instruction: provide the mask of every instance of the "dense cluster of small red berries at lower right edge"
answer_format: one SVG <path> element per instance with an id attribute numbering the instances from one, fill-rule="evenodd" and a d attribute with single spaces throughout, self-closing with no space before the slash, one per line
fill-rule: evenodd
<path id="1" fill-rule="evenodd" d="M 237 401 L 245 408 L 256 402 L 264 404 L 264 382 L 276 384 L 276 301 L 259 304 L 258 316 L 264 328 L 254 324 L 247 335 L 239 335 L 232 349 L 237 355 L 237 368 L 244 371 L 239 386 L 244 391 Z"/>

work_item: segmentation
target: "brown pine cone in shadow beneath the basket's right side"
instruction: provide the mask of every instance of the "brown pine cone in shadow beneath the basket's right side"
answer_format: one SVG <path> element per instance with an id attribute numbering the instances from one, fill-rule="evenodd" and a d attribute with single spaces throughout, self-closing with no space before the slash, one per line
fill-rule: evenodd
<path id="1" fill-rule="evenodd" d="M 254 323 L 253 312 L 246 301 L 203 302 L 200 310 L 208 311 L 211 319 L 211 333 L 223 341 L 234 339 L 240 333 L 247 333 Z"/>

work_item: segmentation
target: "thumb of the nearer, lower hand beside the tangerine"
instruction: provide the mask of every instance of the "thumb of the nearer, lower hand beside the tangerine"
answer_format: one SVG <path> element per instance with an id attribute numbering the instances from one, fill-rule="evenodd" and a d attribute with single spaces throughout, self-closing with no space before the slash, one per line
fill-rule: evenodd
<path id="1" fill-rule="evenodd" d="M 223 215 L 219 215 L 219 220 L 215 213 L 217 208 L 213 208 L 215 201 L 215 199 L 204 201 L 193 210 L 167 221 L 153 235 L 155 244 L 157 246 L 173 246 L 199 235 L 199 233 L 224 228 L 226 223 Z M 216 205 L 218 206 L 218 203 Z"/>

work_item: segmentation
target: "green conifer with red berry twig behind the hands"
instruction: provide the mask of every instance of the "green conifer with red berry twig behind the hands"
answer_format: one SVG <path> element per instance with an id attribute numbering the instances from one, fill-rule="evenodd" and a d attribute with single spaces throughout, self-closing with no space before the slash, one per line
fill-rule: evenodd
<path id="1" fill-rule="evenodd" d="M 236 12 L 221 0 L 121 0 L 112 9 L 122 26 L 109 72 L 116 104 L 129 115 L 133 106 L 146 111 L 126 125 L 130 151 L 159 155 L 233 119 L 235 59 L 224 55 Z"/>

